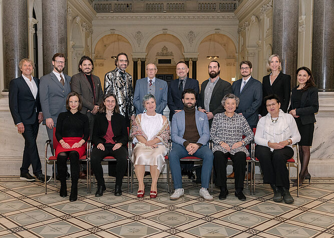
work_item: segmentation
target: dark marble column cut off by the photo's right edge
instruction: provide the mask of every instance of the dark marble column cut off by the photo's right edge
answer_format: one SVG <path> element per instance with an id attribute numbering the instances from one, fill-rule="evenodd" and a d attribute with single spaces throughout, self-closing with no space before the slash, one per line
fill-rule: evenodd
<path id="1" fill-rule="evenodd" d="M 332 22 L 334 22 L 333 1 L 313 1 L 312 74 L 319 91 L 334 91 Z"/>

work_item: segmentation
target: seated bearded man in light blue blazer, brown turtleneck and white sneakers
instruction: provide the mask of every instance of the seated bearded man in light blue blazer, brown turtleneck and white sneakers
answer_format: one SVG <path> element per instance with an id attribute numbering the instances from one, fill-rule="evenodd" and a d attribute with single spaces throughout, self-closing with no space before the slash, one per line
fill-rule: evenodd
<path id="1" fill-rule="evenodd" d="M 199 195 L 207 201 L 213 197 L 208 192 L 212 170 L 213 153 L 207 143 L 210 139 L 209 121 L 204 112 L 195 108 L 197 92 L 194 89 L 185 89 L 182 92 L 184 109 L 173 115 L 171 136 L 172 150 L 169 153 L 169 164 L 174 181 L 174 193 L 171 200 L 183 196 L 180 158 L 196 156 L 203 159 L 201 189 Z"/>

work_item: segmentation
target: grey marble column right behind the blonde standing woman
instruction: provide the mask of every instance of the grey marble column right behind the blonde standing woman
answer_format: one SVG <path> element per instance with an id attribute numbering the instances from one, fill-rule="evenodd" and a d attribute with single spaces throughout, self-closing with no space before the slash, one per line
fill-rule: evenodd
<path id="1" fill-rule="evenodd" d="M 272 22 L 272 53 L 281 59 L 282 72 L 291 75 L 296 85 L 298 54 L 299 0 L 274 0 Z"/>

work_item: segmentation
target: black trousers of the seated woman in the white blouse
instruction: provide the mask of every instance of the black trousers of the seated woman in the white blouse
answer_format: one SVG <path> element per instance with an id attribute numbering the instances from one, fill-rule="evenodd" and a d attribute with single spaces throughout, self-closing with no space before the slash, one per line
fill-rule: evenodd
<path id="1" fill-rule="evenodd" d="M 286 167 L 286 160 L 293 156 L 293 149 L 290 146 L 274 149 L 271 152 L 267 146 L 256 145 L 255 156 L 260 161 L 263 183 L 271 183 L 289 189 L 289 172 Z"/>

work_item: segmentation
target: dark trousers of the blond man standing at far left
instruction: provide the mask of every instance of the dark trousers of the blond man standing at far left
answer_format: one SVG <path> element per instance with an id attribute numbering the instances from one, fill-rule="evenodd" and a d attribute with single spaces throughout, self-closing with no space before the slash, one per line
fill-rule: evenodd
<path id="1" fill-rule="evenodd" d="M 34 124 L 24 124 L 25 132 L 22 133 L 25 138 L 25 149 L 23 151 L 21 173 L 29 172 L 30 164 L 33 167 L 33 173 L 38 176 L 42 173 L 42 164 L 37 148 L 37 134 L 40 123 L 38 123 L 38 113 Z"/>

